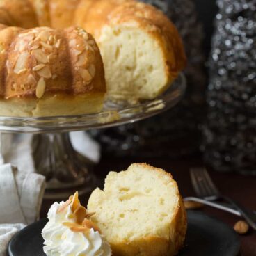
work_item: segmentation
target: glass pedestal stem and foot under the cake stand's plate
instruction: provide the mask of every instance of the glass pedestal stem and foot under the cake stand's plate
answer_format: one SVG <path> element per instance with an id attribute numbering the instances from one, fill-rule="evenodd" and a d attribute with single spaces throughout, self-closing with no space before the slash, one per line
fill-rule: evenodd
<path id="1" fill-rule="evenodd" d="M 33 159 L 47 179 L 46 199 L 65 199 L 75 191 L 85 195 L 97 186 L 94 163 L 74 150 L 67 133 L 35 134 Z"/>

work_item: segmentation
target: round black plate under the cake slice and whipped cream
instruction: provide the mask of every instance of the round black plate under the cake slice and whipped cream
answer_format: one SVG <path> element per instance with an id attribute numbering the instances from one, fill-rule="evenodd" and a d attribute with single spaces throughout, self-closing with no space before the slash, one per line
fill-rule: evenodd
<path id="1" fill-rule="evenodd" d="M 45 256 L 42 251 L 42 228 L 46 219 L 33 223 L 10 241 L 9 256 Z M 198 211 L 188 212 L 189 228 L 179 256 L 237 256 L 238 235 L 225 223 Z"/>

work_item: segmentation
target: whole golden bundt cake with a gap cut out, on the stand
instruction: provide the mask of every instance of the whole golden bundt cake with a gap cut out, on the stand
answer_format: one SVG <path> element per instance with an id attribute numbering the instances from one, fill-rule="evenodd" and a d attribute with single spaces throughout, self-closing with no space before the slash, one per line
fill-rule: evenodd
<path id="1" fill-rule="evenodd" d="M 93 113 L 106 90 L 152 99 L 186 63 L 175 26 L 134 0 L 1 0 L 0 24 L 0 115 Z"/>

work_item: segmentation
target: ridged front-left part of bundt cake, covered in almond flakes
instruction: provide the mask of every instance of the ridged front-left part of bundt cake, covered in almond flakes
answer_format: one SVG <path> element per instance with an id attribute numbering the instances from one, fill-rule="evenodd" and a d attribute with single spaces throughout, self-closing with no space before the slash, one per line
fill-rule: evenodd
<path id="1" fill-rule="evenodd" d="M 38 100 L 47 99 L 47 104 L 51 104 L 51 97 L 59 99 L 59 103 L 61 99 L 68 99 L 67 105 L 63 102 L 67 113 L 71 111 L 68 111 L 69 102 L 72 113 L 76 113 L 76 109 L 77 113 L 101 109 L 106 92 L 102 57 L 93 37 L 83 29 L 71 27 L 61 31 L 39 27 L 24 30 L 1 25 L 0 47 L 0 96 L 16 99 L 5 100 L 10 107 L 22 99 L 30 100 L 28 109 L 24 109 L 26 113 L 17 113 L 19 116 L 34 115 Z M 77 102 L 72 98 L 76 95 L 79 96 Z M 93 100 L 83 102 L 85 95 L 95 95 L 95 105 Z M 24 104 L 21 106 L 26 108 Z M 63 109 L 52 109 L 52 115 L 63 114 Z M 0 111 L 1 115 L 10 114 L 10 111 L 5 114 L 4 110 Z M 43 110 L 35 113 L 45 115 Z"/>

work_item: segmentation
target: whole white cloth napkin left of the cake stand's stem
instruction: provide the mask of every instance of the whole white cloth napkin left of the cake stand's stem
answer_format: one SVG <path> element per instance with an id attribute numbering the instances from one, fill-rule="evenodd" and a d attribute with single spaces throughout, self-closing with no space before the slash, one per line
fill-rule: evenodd
<path id="1" fill-rule="evenodd" d="M 0 256 L 39 217 L 45 177 L 34 173 L 30 135 L 0 134 Z"/>

